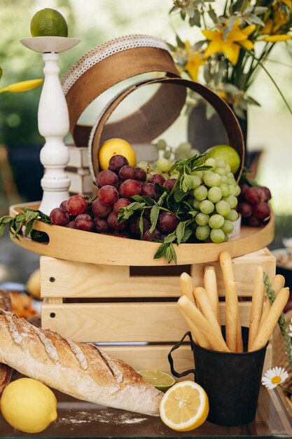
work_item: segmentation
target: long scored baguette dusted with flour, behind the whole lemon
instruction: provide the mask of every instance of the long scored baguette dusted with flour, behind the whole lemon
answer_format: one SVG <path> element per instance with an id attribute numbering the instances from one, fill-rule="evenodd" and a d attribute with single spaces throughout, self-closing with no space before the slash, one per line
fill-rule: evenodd
<path id="1" fill-rule="evenodd" d="M 0 361 L 75 398 L 159 414 L 163 393 L 93 344 L 74 343 L 0 310 Z"/>

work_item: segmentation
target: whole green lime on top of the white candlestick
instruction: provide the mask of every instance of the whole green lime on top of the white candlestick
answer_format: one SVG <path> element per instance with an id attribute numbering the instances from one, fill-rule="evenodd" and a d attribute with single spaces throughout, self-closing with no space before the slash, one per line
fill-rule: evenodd
<path id="1" fill-rule="evenodd" d="M 30 32 L 32 36 L 68 36 L 68 26 L 60 12 L 45 8 L 34 14 Z"/>

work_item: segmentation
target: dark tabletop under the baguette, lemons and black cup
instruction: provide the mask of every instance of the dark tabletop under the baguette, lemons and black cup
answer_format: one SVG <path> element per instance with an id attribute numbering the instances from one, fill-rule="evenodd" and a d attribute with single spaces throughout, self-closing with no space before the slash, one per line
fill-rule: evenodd
<path id="1" fill-rule="evenodd" d="M 12 428 L 0 415 L 1 438 L 292 438 L 292 422 L 276 391 L 260 389 L 256 419 L 246 426 L 223 427 L 205 422 L 186 433 L 176 432 L 159 417 L 125 412 L 76 400 L 55 392 L 57 421 L 32 435 Z"/>

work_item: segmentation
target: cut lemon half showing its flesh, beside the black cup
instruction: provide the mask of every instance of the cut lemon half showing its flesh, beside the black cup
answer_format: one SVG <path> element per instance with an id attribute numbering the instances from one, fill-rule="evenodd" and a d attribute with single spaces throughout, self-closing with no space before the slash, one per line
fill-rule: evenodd
<path id="1" fill-rule="evenodd" d="M 160 402 L 162 421 L 176 431 L 200 427 L 209 413 L 207 393 L 193 381 L 174 384 Z"/>

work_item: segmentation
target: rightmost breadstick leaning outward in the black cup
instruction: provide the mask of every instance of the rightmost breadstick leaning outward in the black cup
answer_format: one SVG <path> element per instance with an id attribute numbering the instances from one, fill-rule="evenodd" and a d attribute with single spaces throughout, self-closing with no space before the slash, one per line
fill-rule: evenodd
<path id="1" fill-rule="evenodd" d="M 288 288 L 281 288 L 276 299 L 274 299 L 274 303 L 267 314 L 267 318 L 263 322 L 262 327 L 260 327 L 258 335 L 251 346 L 251 351 L 263 348 L 263 346 L 267 344 L 272 332 L 274 331 L 274 327 L 277 325 L 279 316 L 281 316 L 281 313 L 288 302 L 289 294 L 290 292 Z"/>

